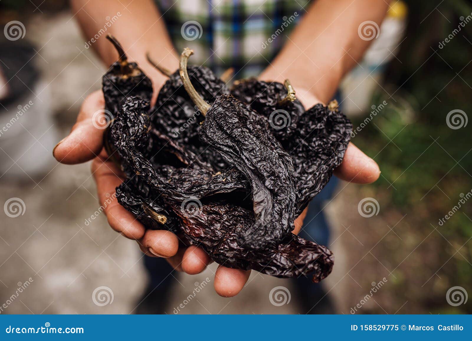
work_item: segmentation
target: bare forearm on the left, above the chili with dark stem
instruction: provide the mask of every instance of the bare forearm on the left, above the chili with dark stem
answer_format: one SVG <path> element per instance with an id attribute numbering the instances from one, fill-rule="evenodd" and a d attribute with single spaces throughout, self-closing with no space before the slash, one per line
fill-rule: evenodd
<path id="1" fill-rule="evenodd" d="M 86 40 L 107 67 L 118 58 L 105 38 L 110 33 L 123 45 L 128 58 L 135 60 L 154 82 L 163 83 L 165 77 L 147 63 L 146 52 L 160 65 L 177 69 L 178 59 L 164 20 L 151 0 L 71 0 L 71 6 Z"/>

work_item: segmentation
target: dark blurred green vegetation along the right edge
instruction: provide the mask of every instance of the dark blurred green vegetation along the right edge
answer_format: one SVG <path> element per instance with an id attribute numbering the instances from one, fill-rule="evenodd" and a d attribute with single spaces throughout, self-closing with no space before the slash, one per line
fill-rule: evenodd
<path id="1" fill-rule="evenodd" d="M 420 271 L 434 274 L 452 257 L 438 277 L 447 288 L 460 285 L 472 294 L 472 241 L 468 241 L 472 237 L 472 200 L 443 226 L 438 225 L 438 220 L 457 205 L 461 193 L 472 190 L 472 122 L 457 130 L 446 124 L 451 110 L 464 110 L 468 116 L 472 113 L 472 21 L 444 48 L 438 47 L 458 28 L 461 16 L 471 16 L 472 3 L 405 2 L 409 7 L 407 38 L 398 60 L 388 68 L 383 86 L 386 91 L 380 90 L 372 100 L 374 105 L 382 100 L 389 104 L 354 142 L 379 163 L 382 176 L 375 186 L 379 197 L 388 198 L 382 202 L 384 212 L 390 208 L 408 213 L 415 233 L 420 232 L 418 238 L 424 238 L 434 227 L 444 236 L 435 245 L 440 264 L 436 268 L 425 265 Z M 354 127 L 361 121 L 354 120 Z M 417 290 L 409 285 L 413 284 L 402 283 L 402 291 Z M 437 289 L 418 295 L 416 303 L 434 306 L 437 313 L 472 313 L 470 304 L 449 306 L 444 288 Z"/>

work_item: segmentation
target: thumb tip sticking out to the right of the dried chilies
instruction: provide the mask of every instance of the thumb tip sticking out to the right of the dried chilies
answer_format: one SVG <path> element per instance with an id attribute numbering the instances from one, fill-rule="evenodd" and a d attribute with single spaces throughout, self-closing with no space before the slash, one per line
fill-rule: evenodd
<path id="1" fill-rule="evenodd" d="M 373 183 L 380 176 L 377 162 L 349 142 L 343 162 L 334 170 L 334 175 L 353 183 Z"/>

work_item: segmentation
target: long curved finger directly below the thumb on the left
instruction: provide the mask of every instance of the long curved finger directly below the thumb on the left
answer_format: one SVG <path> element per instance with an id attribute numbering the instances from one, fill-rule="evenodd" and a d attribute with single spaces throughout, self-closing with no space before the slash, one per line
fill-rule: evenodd
<path id="1" fill-rule="evenodd" d="M 105 152 L 101 154 L 103 156 Z M 135 216 L 118 203 L 116 188 L 123 179 L 121 172 L 110 161 L 95 158 L 92 162 L 92 174 L 97 183 L 99 202 L 111 228 L 129 239 L 143 238 L 145 228 Z"/>

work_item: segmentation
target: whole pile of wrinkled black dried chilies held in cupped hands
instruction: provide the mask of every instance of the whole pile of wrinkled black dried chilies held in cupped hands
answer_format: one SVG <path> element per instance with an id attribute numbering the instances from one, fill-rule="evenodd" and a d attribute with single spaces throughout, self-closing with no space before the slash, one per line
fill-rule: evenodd
<path id="1" fill-rule="evenodd" d="M 188 49 L 179 70 L 160 68 L 169 80 L 150 108 L 150 79 L 109 39 L 120 55 L 103 77 L 105 146 L 126 174 L 118 202 L 224 266 L 325 278 L 331 251 L 291 232 L 343 159 L 346 116 L 333 104 L 305 110 L 288 81 L 229 89 L 210 69 L 187 67 Z"/>

